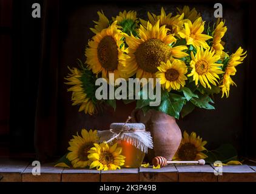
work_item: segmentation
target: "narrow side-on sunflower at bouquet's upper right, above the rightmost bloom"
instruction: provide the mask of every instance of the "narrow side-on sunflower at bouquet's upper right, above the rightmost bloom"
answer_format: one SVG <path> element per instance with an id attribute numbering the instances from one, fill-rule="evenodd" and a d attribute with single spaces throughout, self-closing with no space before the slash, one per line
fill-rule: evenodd
<path id="1" fill-rule="evenodd" d="M 213 32 L 212 48 L 215 50 L 216 55 L 222 55 L 224 50 L 224 42 L 221 41 L 221 38 L 225 35 L 227 27 L 224 26 L 224 22 L 220 20 L 217 21 L 217 26 Z"/>

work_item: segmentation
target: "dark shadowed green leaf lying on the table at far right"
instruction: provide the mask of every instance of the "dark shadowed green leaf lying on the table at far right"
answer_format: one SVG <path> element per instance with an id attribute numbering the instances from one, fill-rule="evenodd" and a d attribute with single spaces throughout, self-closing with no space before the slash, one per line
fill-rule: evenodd
<path id="1" fill-rule="evenodd" d="M 215 161 L 221 161 L 227 163 L 232 160 L 237 160 L 237 150 L 231 144 L 223 144 L 216 150 L 207 151 L 205 153 L 207 163 L 213 163 Z"/>

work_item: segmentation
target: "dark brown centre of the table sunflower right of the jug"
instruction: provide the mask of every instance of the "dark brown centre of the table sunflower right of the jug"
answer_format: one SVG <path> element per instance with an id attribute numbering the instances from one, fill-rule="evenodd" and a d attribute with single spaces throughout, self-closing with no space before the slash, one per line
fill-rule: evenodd
<path id="1" fill-rule="evenodd" d="M 183 144 L 178 150 L 178 157 L 183 161 L 193 161 L 197 156 L 197 148 L 190 143 Z"/>

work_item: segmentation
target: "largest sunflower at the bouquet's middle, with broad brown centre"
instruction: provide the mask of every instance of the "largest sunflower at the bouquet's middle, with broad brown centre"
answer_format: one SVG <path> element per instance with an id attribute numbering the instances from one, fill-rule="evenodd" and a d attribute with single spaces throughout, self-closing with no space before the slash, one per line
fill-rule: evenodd
<path id="1" fill-rule="evenodd" d="M 141 25 L 138 31 L 140 38 L 126 35 L 126 43 L 129 45 L 128 57 L 121 72 L 127 76 L 136 73 L 137 78 L 155 78 L 157 67 L 161 65 L 161 62 L 167 62 L 172 57 L 187 56 L 187 53 L 183 52 L 187 49 L 186 46 L 170 46 L 176 42 L 176 39 L 173 35 L 167 34 L 168 29 L 165 25 L 160 27 L 159 23 L 158 20 L 152 26 L 148 22 L 147 28 Z"/>

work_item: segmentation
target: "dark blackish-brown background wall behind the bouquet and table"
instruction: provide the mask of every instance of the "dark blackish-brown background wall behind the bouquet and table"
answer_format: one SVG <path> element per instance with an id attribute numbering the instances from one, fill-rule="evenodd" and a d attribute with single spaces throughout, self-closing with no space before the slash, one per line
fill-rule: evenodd
<path id="1" fill-rule="evenodd" d="M 41 4 L 42 18 L 32 18 L 32 4 Z M 248 57 L 238 65 L 229 98 L 214 97 L 216 110 L 195 109 L 177 122 L 181 130 L 195 131 L 215 149 L 233 144 L 240 156 L 255 157 L 255 22 L 253 1 L 223 1 L 227 33 L 225 49 L 242 47 Z M 215 21 L 215 1 L 30 1 L 0 0 L 0 156 L 51 158 L 66 152 L 71 135 L 86 129 L 108 129 L 123 122 L 135 104 L 118 102 L 116 113 L 78 113 L 70 102 L 64 76 L 76 58 L 85 61 L 84 49 L 93 36 L 89 27 L 103 10 L 107 18 L 118 12 L 136 10 L 147 18 L 148 11 L 160 14 L 175 7 L 195 7 L 204 20 Z"/>

